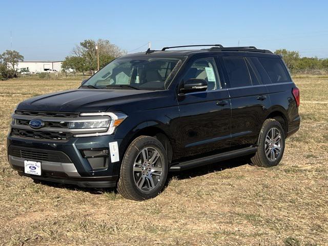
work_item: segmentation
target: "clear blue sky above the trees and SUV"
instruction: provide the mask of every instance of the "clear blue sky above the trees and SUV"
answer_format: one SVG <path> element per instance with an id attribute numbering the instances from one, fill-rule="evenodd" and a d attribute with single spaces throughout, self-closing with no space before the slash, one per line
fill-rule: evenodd
<path id="1" fill-rule="evenodd" d="M 61 60 L 75 44 L 109 39 L 129 52 L 188 44 L 256 46 L 328 57 L 328 1 L 7 1 L 0 53 Z"/>

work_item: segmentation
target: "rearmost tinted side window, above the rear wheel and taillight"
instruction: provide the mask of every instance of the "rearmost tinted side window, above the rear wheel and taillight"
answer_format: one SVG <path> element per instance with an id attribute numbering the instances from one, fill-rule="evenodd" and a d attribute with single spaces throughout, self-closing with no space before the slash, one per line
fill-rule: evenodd
<path id="1" fill-rule="evenodd" d="M 265 71 L 267 71 L 272 83 L 283 83 L 291 81 L 291 78 L 280 59 L 258 58 Z"/>

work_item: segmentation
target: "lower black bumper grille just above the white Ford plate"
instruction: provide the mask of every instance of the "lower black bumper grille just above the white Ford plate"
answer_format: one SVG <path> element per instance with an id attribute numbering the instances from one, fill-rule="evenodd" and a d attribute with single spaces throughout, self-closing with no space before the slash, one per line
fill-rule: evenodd
<path id="1" fill-rule="evenodd" d="M 8 155 L 24 158 L 27 160 L 40 160 L 61 163 L 72 162 L 65 153 L 53 150 L 39 150 L 32 148 L 9 146 Z"/>

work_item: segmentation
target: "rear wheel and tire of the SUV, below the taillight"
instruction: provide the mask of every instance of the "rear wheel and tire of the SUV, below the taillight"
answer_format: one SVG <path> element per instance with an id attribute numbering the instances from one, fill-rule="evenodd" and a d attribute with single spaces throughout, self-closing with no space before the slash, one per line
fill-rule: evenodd
<path id="1" fill-rule="evenodd" d="M 281 124 L 275 119 L 267 119 L 262 125 L 256 154 L 251 165 L 258 167 L 277 166 L 283 156 L 285 136 Z"/>

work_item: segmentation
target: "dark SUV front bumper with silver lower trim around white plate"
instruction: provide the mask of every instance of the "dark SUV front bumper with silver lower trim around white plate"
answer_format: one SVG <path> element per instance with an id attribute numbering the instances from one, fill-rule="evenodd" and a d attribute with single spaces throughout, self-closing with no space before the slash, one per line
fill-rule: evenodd
<path id="1" fill-rule="evenodd" d="M 18 171 L 19 175 L 33 179 L 67 183 L 79 187 L 115 187 L 120 161 L 111 162 L 111 158 L 107 157 L 108 167 L 95 170 L 92 169 L 88 159 L 81 154 L 81 150 L 85 149 L 109 148 L 109 142 L 113 141 L 117 141 L 119 155 L 121 155 L 121 139 L 114 139 L 114 135 L 72 138 L 66 142 L 27 139 L 8 135 L 8 161 L 10 166 Z M 13 147 L 16 150 L 35 150 L 40 153 L 40 156 L 34 152 L 29 157 L 19 156 L 12 151 Z M 48 159 L 45 159 L 45 154 L 48 155 Z M 24 160 L 26 159 L 42 162 L 41 176 L 25 174 Z"/>

